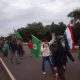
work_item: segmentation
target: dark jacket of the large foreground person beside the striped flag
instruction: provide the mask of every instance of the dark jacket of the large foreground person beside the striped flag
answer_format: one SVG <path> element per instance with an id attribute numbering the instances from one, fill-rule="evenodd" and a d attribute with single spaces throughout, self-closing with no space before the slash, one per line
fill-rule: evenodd
<path id="1" fill-rule="evenodd" d="M 67 56 L 74 61 L 74 58 L 72 57 L 69 50 L 62 46 L 60 41 L 57 41 L 57 44 L 55 46 L 55 49 L 52 52 L 52 62 L 54 63 L 54 66 L 57 65 L 66 65 L 67 62 Z"/>

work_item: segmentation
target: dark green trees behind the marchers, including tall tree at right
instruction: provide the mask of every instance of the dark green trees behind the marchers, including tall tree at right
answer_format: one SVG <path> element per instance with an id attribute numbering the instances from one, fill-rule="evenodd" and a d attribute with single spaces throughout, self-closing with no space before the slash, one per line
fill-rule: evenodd
<path id="1" fill-rule="evenodd" d="M 75 44 L 77 44 L 80 38 L 80 8 L 71 11 L 67 15 L 67 17 L 70 17 L 72 23 L 74 24 L 72 26 L 73 37 Z M 20 32 L 24 41 L 28 41 L 31 38 L 31 34 L 33 34 L 39 39 L 46 37 L 48 40 L 50 40 L 51 32 L 54 32 L 56 36 L 63 35 L 66 27 L 67 25 L 65 25 L 63 22 L 60 22 L 58 24 L 52 22 L 50 25 L 43 25 L 41 22 L 34 22 L 32 24 L 26 25 L 24 28 L 18 29 L 17 31 Z"/>

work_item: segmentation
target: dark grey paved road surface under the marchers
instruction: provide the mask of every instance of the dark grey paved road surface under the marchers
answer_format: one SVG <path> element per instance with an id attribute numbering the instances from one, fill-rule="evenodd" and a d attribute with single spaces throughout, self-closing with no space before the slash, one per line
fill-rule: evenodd
<path id="1" fill-rule="evenodd" d="M 25 47 L 24 47 L 25 48 Z M 8 68 L 16 80 L 55 80 L 51 73 L 49 65 L 46 63 L 46 75 L 41 73 L 41 58 L 30 57 L 29 49 L 25 48 L 26 53 L 20 59 L 21 64 L 9 62 L 9 59 L 3 58 Z M 75 58 L 76 54 L 73 54 Z M 66 80 L 80 80 L 80 61 L 77 60 L 76 64 L 71 61 L 67 64 Z"/>

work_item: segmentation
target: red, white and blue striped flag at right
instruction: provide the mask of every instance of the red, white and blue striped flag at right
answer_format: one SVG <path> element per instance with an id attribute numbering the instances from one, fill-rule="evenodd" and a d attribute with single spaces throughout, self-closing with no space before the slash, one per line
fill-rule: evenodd
<path id="1" fill-rule="evenodd" d="M 73 40 L 72 28 L 70 24 L 68 24 L 65 30 L 65 35 L 66 35 L 69 48 L 74 49 L 74 40 Z"/>

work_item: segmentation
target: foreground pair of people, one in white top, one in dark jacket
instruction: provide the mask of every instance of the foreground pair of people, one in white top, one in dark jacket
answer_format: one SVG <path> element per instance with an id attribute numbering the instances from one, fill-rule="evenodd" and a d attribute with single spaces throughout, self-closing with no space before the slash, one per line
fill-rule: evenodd
<path id="1" fill-rule="evenodd" d="M 68 62 L 67 57 L 69 57 L 73 63 L 76 61 L 71 55 L 64 37 L 55 37 L 52 39 L 50 42 L 48 42 L 47 39 L 42 40 L 42 73 L 46 74 L 45 62 L 48 61 L 53 74 L 55 74 L 56 80 L 66 80 L 65 70 Z"/>

